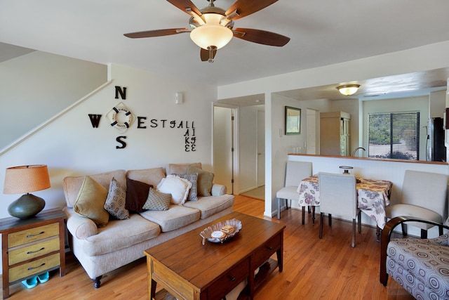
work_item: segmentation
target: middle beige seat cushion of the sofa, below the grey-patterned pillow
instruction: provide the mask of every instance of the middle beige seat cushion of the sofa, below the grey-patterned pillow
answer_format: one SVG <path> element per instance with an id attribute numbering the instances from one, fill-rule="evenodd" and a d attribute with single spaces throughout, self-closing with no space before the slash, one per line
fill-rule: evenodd
<path id="1" fill-rule="evenodd" d="M 140 216 L 161 226 L 162 232 L 167 232 L 194 223 L 199 220 L 200 214 L 198 209 L 170 204 L 166 211 L 144 211 Z"/>

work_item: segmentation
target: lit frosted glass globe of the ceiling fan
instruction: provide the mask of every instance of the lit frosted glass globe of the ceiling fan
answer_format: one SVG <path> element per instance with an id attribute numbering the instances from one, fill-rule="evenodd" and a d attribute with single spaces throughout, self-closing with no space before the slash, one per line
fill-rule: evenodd
<path id="1" fill-rule="evenodd" d="M 232 30 L 222 25 L 202 25 L 190 32 L 190 39 L 199 47 L 206 49 L 215 46 L 220 49 L 231 41 Z"/>

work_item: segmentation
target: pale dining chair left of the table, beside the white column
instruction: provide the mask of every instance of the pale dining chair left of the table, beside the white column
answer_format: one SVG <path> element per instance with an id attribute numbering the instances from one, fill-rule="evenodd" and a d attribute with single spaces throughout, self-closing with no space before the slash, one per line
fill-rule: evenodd
<path id="1" fill-rule="evenodd" d="M 297 188 L 303 178 L 311 176 L 311 162 L 294 162 L 289 160 L 286 166 L 286 181 L 284 187 L 278 190 L 276 198 L 278 200 L 278 219 L 281 219 L 281 199 L 286 200 L 286 209 L 292 204 L 292 200 L 299 200 L 300 194 Z M 289 203 L 288 203 L 289 202 Z M 304 223 L 304 214 L 302 215 Z"/>

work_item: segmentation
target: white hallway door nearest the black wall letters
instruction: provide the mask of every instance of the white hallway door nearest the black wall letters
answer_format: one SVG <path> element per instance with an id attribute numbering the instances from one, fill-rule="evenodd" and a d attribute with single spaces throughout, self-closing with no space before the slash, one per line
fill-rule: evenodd
<path id="1" fill-rule="evenodd" d="M 213 181 L 226 185 L 228 194 L 234 193 L 233 116 L 232 108 L 213 107 Z"/>

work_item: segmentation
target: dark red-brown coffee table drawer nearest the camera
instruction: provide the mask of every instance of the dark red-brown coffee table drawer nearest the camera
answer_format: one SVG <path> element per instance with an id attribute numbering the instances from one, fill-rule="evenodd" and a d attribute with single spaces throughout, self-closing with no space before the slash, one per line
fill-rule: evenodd
<path id="1" fill-rule="evenodd" d="M 234 287 L 239 285 L 245 278 L 248 278 L 249 274 L 250 263 L 248 259 L 244 259 L 208 287 L 208 299 L 224 298 Z"/>

